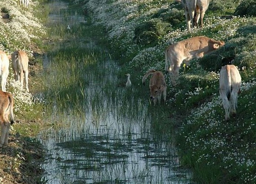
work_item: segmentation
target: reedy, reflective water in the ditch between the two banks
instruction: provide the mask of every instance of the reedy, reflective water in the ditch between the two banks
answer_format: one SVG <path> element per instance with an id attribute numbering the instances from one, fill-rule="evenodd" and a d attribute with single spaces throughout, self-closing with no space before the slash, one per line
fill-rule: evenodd
<path id="1" fill-rule="evenodd" d="M 70 11 L 67 3 L 52 0 L 50 7 L 49 26 L 56 22 L 71 27 L 86 25 L 86 19 Z M 95 47 L 93 42 L 82 44 L 83 39 L 76 41 L 78 47 Z M 119 68 L 109 53 L 103 50 L 102 54 L 106 59 L 98 64 L 100 71 L 88 69 L 84 74 L 88 81 L 83 88 L 84 116 L 75 116 L 64 109 L 63 114 L 51 118 L 53 122 L 63 121 L 65 126 L 38 135 L 49 153 L 42 164 L 43 181 L 49 184 L 191 183 L 191 173 L 179 167 L 171 138 L 173 131 L 160 123 L 163 114 L 152 114 L 147 100 L 134 98 L 132 90 L 117 86 Z M 45 54 L 44 67 L 49 67 L 50 62 L 51 58 Z"/>

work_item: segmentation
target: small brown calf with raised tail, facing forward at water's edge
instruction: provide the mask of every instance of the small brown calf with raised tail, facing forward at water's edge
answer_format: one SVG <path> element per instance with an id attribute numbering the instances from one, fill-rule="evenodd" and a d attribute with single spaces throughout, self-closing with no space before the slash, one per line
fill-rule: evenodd
<path id="1" fill-rule="evenodd" d="M 156 105 L 157 100 L 158 103 L 161 103 L 161 96 L 163 94 L 164 103 L 166 102 L 166 83 L 164 79 L 164 75 L 160 71 L 150 70 L 148 71 L 144 77 L 142 78 L 142 84 L 145 85 L 146 78 L 153 74 L 149 81 L 149 89 L 150 89 L 150 99 L 153 100 L 154 105 Z"/>

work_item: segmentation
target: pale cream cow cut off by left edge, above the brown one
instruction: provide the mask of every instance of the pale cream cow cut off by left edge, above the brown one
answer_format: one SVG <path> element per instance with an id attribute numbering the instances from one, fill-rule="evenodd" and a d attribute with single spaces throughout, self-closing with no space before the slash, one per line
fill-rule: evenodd
<path id="1" fill-rule="evenodd" d="M 6 92 L 6 81 L 9 75 L 9 57 L 5 52 L 0 50 L 0 78 L 1 78 L 1 89 Z"/>

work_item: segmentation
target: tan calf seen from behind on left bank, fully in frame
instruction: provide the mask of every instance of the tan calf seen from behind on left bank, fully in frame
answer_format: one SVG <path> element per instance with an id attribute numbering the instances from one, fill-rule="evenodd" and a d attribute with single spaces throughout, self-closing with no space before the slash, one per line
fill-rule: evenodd
<path id="1" fill-rule="evenodd" d="M 16 50 L 11 55 L 11 63 L 13 66 L 14 78 L 16 81 L 19 81 L 21 87 L 23 88 L 23 81 L 25 75 L 25 87 L 27 92 L 28 89 L 28 56 L 22 50 Z"/>

